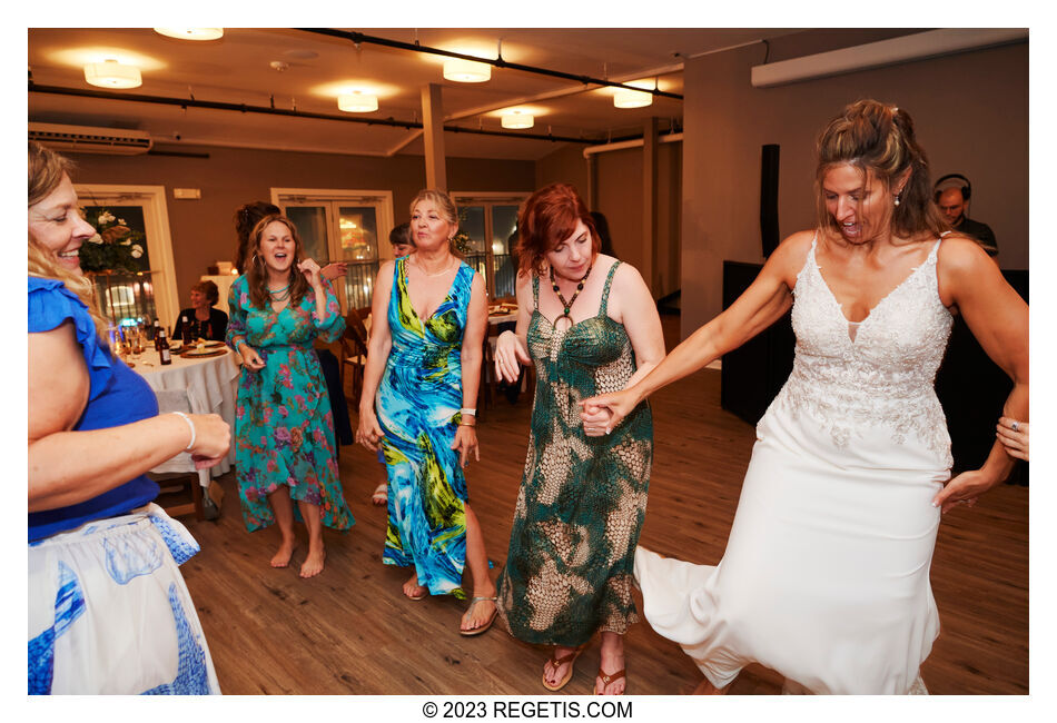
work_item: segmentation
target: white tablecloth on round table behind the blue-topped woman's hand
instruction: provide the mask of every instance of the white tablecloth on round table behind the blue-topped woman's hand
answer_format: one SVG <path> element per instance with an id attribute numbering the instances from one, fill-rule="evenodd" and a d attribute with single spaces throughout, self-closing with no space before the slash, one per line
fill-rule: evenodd
<path id="1" fill-rule="evenodd" d="M 225 347 L 220 356 L 201 359 L 184 358 L 172 355 L 172 364 L 161 366 L 158 353 L 152 348 L 131 361 L 132 369 L 150 385 L 151 389 L 187 389 L 192 414 L 218 414 L 231 425 L 231 449 L 220 464 L 211 468 L 213 476 L 219 477 L 235 464 L 235 396 L 238 383 L 238 355 Z M 194 468 L 190 455 L 179 454 L 172 459 L 151 469 L 157 473 L 187 472 Z M 209 486 L 209 469 L 199 469 L 198 477 L 202 487 Z"/>

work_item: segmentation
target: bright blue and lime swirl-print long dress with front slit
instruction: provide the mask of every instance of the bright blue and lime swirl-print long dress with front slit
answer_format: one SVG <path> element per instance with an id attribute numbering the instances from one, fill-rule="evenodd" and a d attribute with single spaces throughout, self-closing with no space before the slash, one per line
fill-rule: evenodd
<path id="1" fill-rule="evenodd" d="M 382 561 L 414 565 L 433 595 L 464 598 L 466 479 L 452 449 L 462 416 L 463 330 L 474 270 L 461 264 L 444 301 L 419 319 L 407 293 L 407 259 L 393 270 L 389 358 L 375 396 L 388 473 Z"/>

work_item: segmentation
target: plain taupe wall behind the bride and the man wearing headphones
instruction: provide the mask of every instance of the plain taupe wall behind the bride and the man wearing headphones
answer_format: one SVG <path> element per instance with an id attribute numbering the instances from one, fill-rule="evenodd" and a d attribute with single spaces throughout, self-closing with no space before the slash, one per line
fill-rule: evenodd
<path id="1" fill-rule="evenodd" d="M 834 47 L 832 33 L 803 33 L 789 40 L 787 50 L 797 41 L 801 51 Z M 994 229 L 1001 266 L 1028 267 L 1027 43 L 753 88 L 750 68 L 763 56 L 763 47 L 753 46 L 685 66 L 683 336 L 721 310 L 724 259 L 762 260 L 761 146 L 781 146 L 782 237 L 811 228 L 816 137 L 844 105 L 860 98 L 910 112 L 933 178 L 967 176 L 972 181 L 970 216 Z M 781 57 L 772 52 L 776 59 Z"/>

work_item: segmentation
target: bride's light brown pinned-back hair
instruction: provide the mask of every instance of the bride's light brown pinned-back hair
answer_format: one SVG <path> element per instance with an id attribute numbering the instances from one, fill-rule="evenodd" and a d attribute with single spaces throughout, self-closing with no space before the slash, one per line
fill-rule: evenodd
<path id="1" fill-rule="evenodd" d="M 814 185 L 820 228 L 840 230 L 826 210 L 822 179 L 834 166 L 851 164 L 865 179 L 876 178 L 886 191 L 910 171 L 899 205 L 892 207 L 891 227 L 899 236 L 931 238 L 950 229 L 932 202 L 928 157 L 915 138 L 913 121 L 906 110 L 869 99 L 851 103 L 819 133 L 818 159 Z"/>

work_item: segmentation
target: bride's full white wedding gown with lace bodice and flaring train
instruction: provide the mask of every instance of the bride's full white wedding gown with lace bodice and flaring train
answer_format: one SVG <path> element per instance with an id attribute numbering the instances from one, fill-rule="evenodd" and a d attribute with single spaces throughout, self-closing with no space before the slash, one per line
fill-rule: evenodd
<path id="1" fill-rule="evenodd" d="M 951 466 L 932 386 L 952 321 L 938 248 L 852 325 L 812 242 L 793 290 L 793 369 L 757 426 L 723 558 L 636 551 L 646 620 L 717 687 L 752 662 L 818 694 L 915 685 L 939 635 L 931 499 Z"/>

